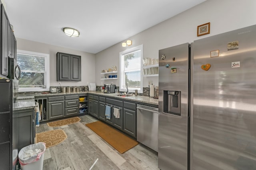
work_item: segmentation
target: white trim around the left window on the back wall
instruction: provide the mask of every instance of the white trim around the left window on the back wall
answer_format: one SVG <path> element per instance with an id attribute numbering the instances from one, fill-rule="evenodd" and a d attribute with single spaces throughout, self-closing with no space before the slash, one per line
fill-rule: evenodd
<path id="1" fill-rule="evenodd" d="M 19 50 L 17 49 L 17 54 L 23 54 L 23 55 L 33 55 L 38 57 L 45 57 L 45 85 L 46 88 L 20 88 L 18 92 L 41 92 L 41 91 L 50 91 L 50 55 L 45 53 L 37 53 L 33 51 L 25 51 L 25 50 Z"/>

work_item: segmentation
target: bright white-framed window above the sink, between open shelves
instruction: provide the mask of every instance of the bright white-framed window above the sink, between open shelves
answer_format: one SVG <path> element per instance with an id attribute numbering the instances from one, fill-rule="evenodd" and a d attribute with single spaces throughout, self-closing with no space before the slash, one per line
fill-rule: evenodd
<path id="1" fill-rule="evenodd" d="M 119 53 L 120 57 L 120 79 L 119 90 L 121 92 L 128 91 L 134 92 L 138 90 L 138 93 L 143 93 L 143 79 L 141 63 L 143 59 L 143 45 L 127 49 Z"/>

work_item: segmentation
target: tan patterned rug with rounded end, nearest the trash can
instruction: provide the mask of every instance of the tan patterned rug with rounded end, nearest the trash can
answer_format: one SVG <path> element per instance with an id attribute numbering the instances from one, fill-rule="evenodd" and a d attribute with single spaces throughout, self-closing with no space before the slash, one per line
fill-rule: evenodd
<path id="1" fill-rule="evenodd" d="M 36 133 L 36 143 L 44 142 L 46 148 L 58 145 L 66 139 L 67 135 L 62 129 Z"/>

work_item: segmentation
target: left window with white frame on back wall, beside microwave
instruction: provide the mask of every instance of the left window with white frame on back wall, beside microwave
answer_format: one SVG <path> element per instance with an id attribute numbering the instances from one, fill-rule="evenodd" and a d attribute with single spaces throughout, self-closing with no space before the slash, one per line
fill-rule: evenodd
<path id="1" fill-rule="evenodd" d="M 17 50 L 20 66 L 19 92 L 50 90 L 49 54 Z"/>

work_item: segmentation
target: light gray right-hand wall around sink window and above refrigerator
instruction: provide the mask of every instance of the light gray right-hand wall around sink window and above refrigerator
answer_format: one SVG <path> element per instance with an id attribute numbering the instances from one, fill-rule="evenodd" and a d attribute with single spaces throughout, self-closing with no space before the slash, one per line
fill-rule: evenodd
<path id="1" fill-rule="evenodd" d="M 103 69 L 111 68 L 112 65 L 116 65 L 119 71 L 119 53 L 121 51 L 143 44 L 144 58 L 158 58 L 159 49 L 187 42 L 191 43 L 196 39 L 256 24 L 255 7 L 255 0 L 207 0 L 130 37 L 132 45 L 129 47 L 122 47 L 121 45 L 126 40 L 117 43 L 96 54 L 96 84 L 113 82 L 119 86 L 119 79 L 100 80 L 100 72 Z M 210 22 L 210 34 L 197 37 L 197 26 L 208 22 Z M 158 85 L 158 77 L 144 77 L 143 86 L 147 87 L 150 80 L 153 81 L 154 85 Z"/>

